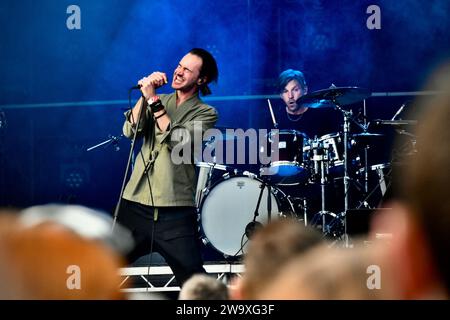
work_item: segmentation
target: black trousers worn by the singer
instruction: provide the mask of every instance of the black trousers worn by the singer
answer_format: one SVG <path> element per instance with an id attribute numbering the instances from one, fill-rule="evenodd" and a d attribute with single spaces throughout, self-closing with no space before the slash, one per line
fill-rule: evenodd
<path id="1" fill-rule="evenodd" d="M 181 286 L 195 273 L 206 273 L 200 250 L 195 208 L 154 207 L 122 199 L 118 222 L 133 234 L 130 263 L 151 252 L 166 260 Z M 152 237 L 153 236 L 153 237 Z"/>

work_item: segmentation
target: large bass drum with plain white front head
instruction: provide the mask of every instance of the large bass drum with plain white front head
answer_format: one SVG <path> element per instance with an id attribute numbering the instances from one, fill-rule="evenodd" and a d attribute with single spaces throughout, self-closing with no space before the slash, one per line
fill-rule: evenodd
<path id="1" fill-rule="evenodd" d="M 225 257 L 239 257 L 246 253 L 249 228 L 252 226 L 258 199 L 258 216 L 255 221 L 266 224 L 271 219 L 293 215 L 289 198 L 278 188 L 270 186 L 254 174 L 225 175 L 203 198 L 200 208 L 203 242 L 210 244 Z M 269 202 L 270 198 L 270 202 Z M 247 232 L 246 232 L 247 230 Z"/>

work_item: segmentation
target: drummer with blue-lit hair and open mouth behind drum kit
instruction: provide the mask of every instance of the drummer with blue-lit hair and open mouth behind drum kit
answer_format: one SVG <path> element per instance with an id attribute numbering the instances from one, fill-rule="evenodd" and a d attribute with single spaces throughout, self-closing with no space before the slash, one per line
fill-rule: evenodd
<path id="1" fill-rule="evenodd" d="M 309 138 L 340 131 L 339 114 L 331 105 L 312 109 L 297 103 L 301 96 L 308 93 L 305 76 L 301 71 L 287 69 L 281 72 L 277 90 L 284 102 L 282 107 L 274 110 L 278 129 L 295 129 Z"/>

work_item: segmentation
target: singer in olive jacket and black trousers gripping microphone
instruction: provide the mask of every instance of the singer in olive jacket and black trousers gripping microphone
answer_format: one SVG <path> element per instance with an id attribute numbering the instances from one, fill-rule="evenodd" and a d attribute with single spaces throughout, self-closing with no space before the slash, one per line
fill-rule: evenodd
<path id="1" fill-rule="evenodd" d="M 199 94 L 210 94 L 208 84 L 217 79 L 214 57 L 204 49 L 194 48 L 173 73 L 171 85 L 175 92 L 157 95 L 156 90 L 168 81 L 165 73 L 153 72 L 138 82 L 142 97 L 125 113 L 123 133 L 132 138 L 141 108 L 145 108 L 137 128 L 143 144 L 125 187 L 118 217 L 132 231 L 136 243 L 128 260 L 131 263 L 159 252 L 180 286 L 194 273 L 205 270 L 194 207 L 194 161 L 179 165 L 172 162 L 171 135 L 182 129 L 193 137 L 194 121 L 202 124 L 203 132 L 214 126 L 217 112 Z"/>

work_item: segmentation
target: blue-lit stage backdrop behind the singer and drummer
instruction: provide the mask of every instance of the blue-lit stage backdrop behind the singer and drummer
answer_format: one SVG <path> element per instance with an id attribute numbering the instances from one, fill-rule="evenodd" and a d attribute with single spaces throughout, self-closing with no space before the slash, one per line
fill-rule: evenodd
<path id="1" fill-rule="evenodd" d="M 370 5 L 380 29 L 367 27 Z M 252 97 L 276 94 L 286 68 L 310 92 L 419 90 L 450 57 L 449 11 L 446 0 L 3 0 L 0 205 L 114 207 L 129 141 L 86 149 L 120 136 L 128 88 L 155 70 L 171 78 L 193 47 L 219 65 L 218 126 L 258 128 L 266 101 Z M 370 98 L 368 115 L 390 118 L 403 98 Z"/>

